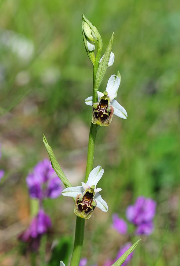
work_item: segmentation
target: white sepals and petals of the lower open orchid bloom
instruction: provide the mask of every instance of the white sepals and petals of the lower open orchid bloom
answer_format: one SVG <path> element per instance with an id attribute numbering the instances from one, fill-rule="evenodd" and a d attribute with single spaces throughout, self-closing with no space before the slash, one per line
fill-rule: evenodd
<path id="1" fill-rule="evenodd" d="M 87 183 L 82 182 L 82 186 L 77 187 L 67 187 L 62 191 L 62 195 L 66 197 L 77 197 L 77 195 L 84 195 L 86 190 L 90 189 L 92 186 L 95 186 L 94 191 L 94 199 L 97 203 L 96 207 L 100 208 L 103 212 L 108 211 L 108 206 L 105 200 L 102 199 L 100 192 L 101 188 L 96 188 L 97 183 L 100 181 L 102 175 L 104 173 L 104 169 L 101 166 L 95 167 L 89 174 Z M 91 188 L 92 189 L 92 188 Z"/>

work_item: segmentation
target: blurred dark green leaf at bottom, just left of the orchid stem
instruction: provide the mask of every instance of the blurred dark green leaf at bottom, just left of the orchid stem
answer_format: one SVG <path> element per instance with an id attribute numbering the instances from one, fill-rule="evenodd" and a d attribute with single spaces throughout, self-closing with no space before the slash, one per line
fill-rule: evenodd
<path id="1" fill-rule="evenodd" d="M 57 245 L 52 249 L 51 258 L 49 260 L 48 266 L 57 266 L 57 264 L 62 260 L 65 265 L 68 265 L 70 251 L 72 249 L 73 239 L 69 236 L 61 237 Z"/>

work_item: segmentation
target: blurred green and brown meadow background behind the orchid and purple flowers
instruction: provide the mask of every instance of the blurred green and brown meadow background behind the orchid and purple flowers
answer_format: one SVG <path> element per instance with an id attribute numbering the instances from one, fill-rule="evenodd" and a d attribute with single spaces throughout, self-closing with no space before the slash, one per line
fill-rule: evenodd
<path id="1" fill-rule="evenodd" d="M 14 265 L 17 235 L 29 223 L 25 177 L 47 157 L 43 133 L 70 182 L 76 186 L 84 179 L 91 122 L 84 100 L 92 95 L 93 77 L 81 33 L 84 13 L 101 34 L 103 53 L 115 31 L 115 62 L 100 90 L 119 70 L 117 100 L 128 119 L 114 116 L 97 134 L 94 166 L 105 169 L 100 187 L 109 212 L 95 209 L 86 222 L 83 257 L 88 265 L 116 257 L 128 239 L 111 228 L 112 213 L 124 218 L 126 207 L 144 195 L 158 202 L 156 227 L 132 265 L 178 266 L 178 0 L 1 0 L 0 12 L 0 168 L 6 171 L 0 187 L 0 265 Z M 60 197 L 45 205 L 53 219 L 51 238 L 73 236 L 72 200 Z M 20 256 L 17 265 L 24 263 L 29 265 Z"/>

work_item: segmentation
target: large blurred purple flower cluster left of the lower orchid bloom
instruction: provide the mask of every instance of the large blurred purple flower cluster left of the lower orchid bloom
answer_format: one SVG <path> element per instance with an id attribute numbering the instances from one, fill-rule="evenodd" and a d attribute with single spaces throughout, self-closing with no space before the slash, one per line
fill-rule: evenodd
<path id="1" fill-rule="evenodd" d="M 48 159 L 40 161 L 26 178 L 29 195 L 32 198 L 56 198 L 63 190 L 62 182 L 56 175 Z"/>

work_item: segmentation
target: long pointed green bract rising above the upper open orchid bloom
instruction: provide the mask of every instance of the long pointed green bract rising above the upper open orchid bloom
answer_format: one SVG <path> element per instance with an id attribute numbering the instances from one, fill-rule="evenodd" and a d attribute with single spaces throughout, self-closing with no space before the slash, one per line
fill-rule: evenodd
<path id="1" fill-rule="evenodd" d="M 112 51 L 113 39 L 114 39 L 114 32 L 112 33 L 111 39 L 109 41 L 109 44 L 108 44 L 108 46 L 107 46 L 107 48 L 105 50 L 105 54 L 103 56 L 103 59 L 100 62 L 98 70 L 97 70 L 97 74 L 96 74 L 96 78 L 95 78 L 95 86 L 94 86 L 96 91 L 99 89 L 101 81 L 103 80 L 105 72 L 107 70 L 110 54 L 111 54 L 111 51 Z"/>

